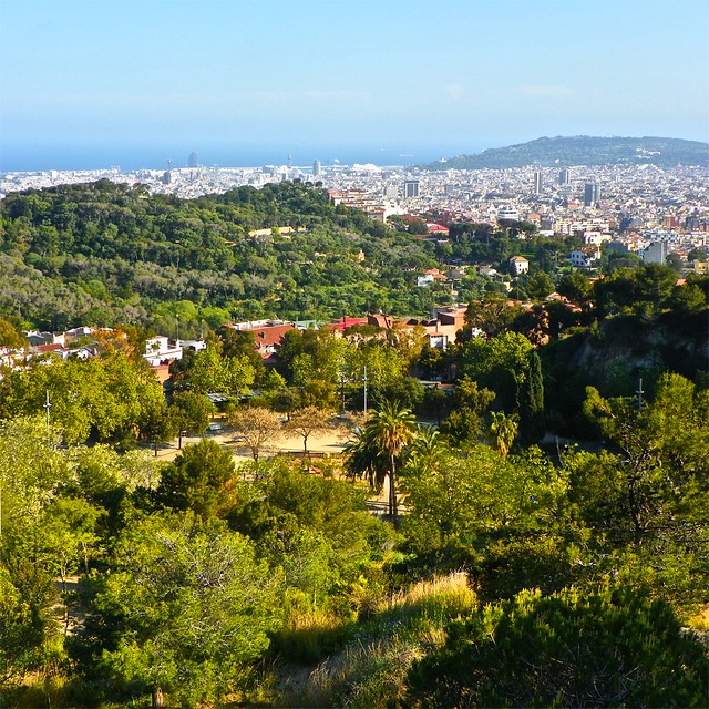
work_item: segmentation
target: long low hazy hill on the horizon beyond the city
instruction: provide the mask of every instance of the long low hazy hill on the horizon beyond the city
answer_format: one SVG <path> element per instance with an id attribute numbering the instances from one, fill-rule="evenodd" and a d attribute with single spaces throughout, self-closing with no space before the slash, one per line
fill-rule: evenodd
<path id="1" fill-rule="evenodd" d="M 672 137 L 594 137 L 573 135 L 493 147 L 424 165 L 427 169 L 480 169 L 525 165 L 707 165 L 709 144 Z"/>

